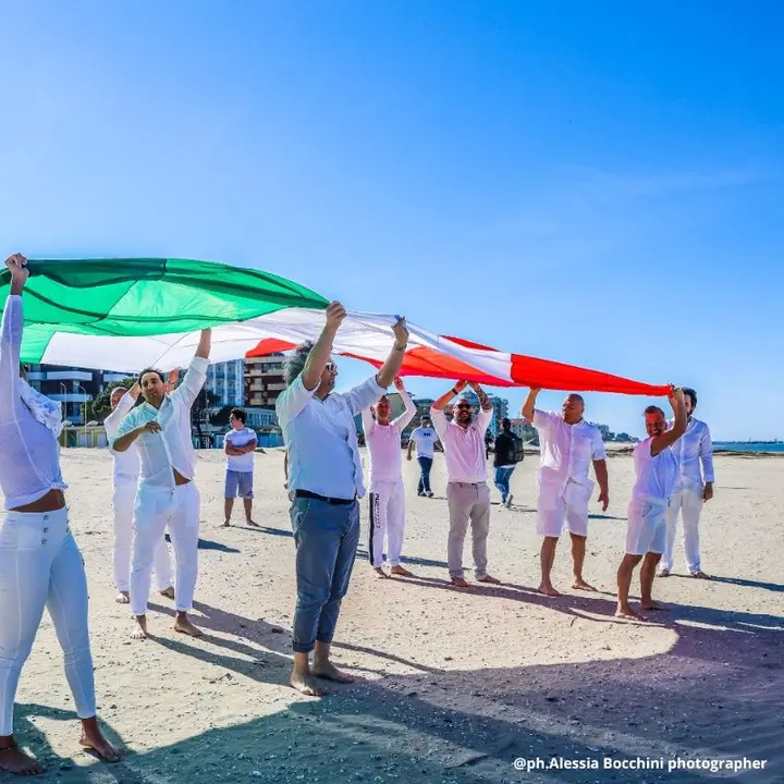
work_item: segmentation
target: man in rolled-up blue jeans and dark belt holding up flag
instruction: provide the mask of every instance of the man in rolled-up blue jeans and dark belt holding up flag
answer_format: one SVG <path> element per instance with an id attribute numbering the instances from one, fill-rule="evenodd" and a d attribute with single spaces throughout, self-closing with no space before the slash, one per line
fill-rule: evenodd
<path id="1" fill-rule="evenodd" d="M 330 303 L 326 317 L 318 341 L 299 346 L 286 363 L 286 389 L 275 402 L 286 445 L 296 544 L 294 670 L 289 683 L 311 697 L 322 694 L 315 677 L 353 681 L 332 664 L 329 654 L 359 541 L 357 499 L 365 494 L 354 417 L 392 383 L 408 341 L 405 319 L 399 319 L 392 352 L 378 373 L 345 394 L 335 394 L 338 367 L 330 354 L 345 309 Z"/>

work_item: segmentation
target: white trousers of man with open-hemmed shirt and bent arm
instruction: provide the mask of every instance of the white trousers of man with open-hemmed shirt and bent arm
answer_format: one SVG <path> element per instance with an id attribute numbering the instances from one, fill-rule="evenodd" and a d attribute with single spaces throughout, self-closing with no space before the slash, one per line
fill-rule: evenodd
<path id="1" fill-rule="evenodd" d="M 134 506 L 134 541 L 131 562 L 131 612 L 147 612 L 152 562 L 163 530 L 169 526 L 176 563 L 174 601 L 179 612 L 193 609 L 198 576 L 199 493 L 187 482 L 172 490 L 139 485 Z"/>

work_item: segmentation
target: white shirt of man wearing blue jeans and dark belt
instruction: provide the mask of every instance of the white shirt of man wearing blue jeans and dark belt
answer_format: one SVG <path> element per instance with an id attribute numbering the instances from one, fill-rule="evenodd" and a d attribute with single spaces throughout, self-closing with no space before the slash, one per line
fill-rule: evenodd
<path id="1" fill-rule="evenodd" d="M 318 387 L 316 387 L 318 389 Z M 302 375 L 275 401 L 289 455 L 289 491 L 307 490 L 351 501 L 365 494 L 354 417 L 385 392 L 376 378 L 326 400 L 307 390 Z"/>

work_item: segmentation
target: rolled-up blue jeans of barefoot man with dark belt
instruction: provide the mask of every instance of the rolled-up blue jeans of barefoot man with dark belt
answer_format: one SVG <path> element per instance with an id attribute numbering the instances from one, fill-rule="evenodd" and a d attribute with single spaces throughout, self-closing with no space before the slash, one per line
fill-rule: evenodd
<path id="1" fill-rule="evenodd" d="M 290 510 L 296 544 L 297 601 L 292 648 L 306 653 L 332 642 L 359 543 L 359 504 L 295 498 Z"/>

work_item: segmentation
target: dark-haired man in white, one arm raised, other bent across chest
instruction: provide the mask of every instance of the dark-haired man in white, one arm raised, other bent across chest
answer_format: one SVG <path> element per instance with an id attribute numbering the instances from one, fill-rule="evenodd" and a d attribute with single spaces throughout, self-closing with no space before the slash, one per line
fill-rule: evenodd
<path id="1" fill-rule="evenodd" d="M 147 599 L 158 542 L 169 526 L 176 562 L 174 630 L 200 637 L 187 613 L 193 609 L 198 576 L 199 493 L 193 481 L 196 452 L 191 434 L 191 408 L 207 380 L 211 330 L 201 330 L 196 355 L 180 387 L 167 394 L 163 377 L 145 370 L 139 377 L 145 402 L 123 419 L 112 449 L 125 452 L 138 440 L 142 481 L 134 509 L 131 567 L 131 612 L 134 639 L 147 638 Z"/>

